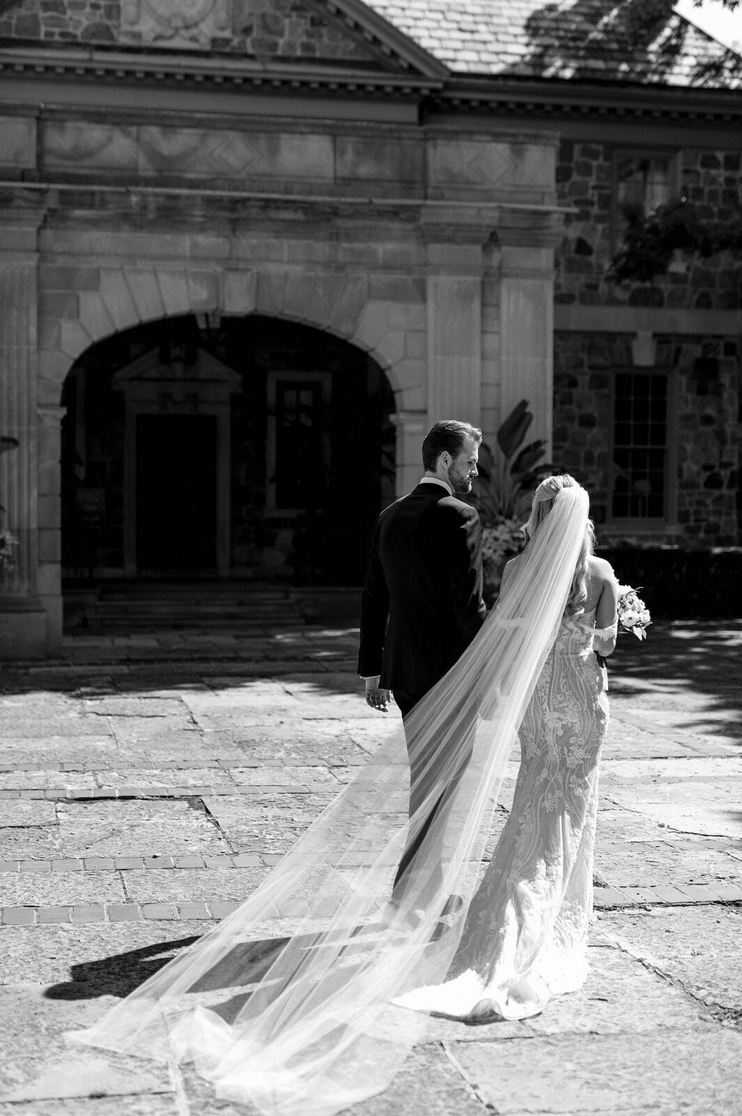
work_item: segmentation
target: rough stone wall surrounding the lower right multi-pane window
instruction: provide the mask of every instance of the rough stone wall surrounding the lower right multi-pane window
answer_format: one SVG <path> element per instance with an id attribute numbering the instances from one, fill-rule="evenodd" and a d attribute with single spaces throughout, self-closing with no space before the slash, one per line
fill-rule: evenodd
<path id="1" fill-rule="evenodd" d="M 557 333 L 554 460 L 589 490 L 603 541 L 627 537 L 609 522 L 612 377 L 632 366 L 632 335 Z M 677 519 L 640 543 L 694 548 L 738 541 L 739 338 L 657 335 L 656 365 L 677 377 Z M 700 362 L 700 363 L 699 363 Z M 601 529 L 601 525 L 606 525 Z"/>

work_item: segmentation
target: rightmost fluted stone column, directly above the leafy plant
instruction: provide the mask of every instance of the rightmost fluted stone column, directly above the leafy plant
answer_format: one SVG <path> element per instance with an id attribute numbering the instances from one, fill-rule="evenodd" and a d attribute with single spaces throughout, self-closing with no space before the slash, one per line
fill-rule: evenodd
<path id="1" fill-rule="evenodd" d="M 554 249 L 501 237 L 500 421 L 527 400 L 534 412 L 528 440 L 551 451 L 554 408 Z"/>

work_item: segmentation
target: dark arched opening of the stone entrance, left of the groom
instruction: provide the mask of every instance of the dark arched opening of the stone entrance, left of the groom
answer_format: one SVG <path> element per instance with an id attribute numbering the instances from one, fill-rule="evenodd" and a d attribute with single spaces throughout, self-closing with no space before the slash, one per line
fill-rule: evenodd
<path id="1" fill-rule="evenodd" d="M 169 318 L 84 353 L 62 403 L 68 579 L 362 580 L 393 499 L 394 397 L 357 347 L 274 318 Z"/>

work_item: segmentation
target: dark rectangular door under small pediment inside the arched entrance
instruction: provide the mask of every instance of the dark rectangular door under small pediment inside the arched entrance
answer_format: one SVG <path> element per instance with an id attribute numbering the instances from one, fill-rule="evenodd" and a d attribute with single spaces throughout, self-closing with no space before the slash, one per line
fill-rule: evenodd
<path id="1" fill-rule="evenodd" d="M 215 416 L 138 415 L 137 566 L 215 569 Z"/>

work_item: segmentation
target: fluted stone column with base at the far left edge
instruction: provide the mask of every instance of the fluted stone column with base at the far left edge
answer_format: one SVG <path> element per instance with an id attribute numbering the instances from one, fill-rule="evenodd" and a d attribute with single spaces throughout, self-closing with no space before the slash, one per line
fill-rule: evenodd
<path id="1" fill-rule="evenodd" d="M 37 231 L 36 212 L 0 224 L 0 434 L 19 446 L 0 459 L 2 526 L 19 540 L 12 571 L 0 573 L 0 658 L 46 654 L 47 616 L 37 597 Z"/>

